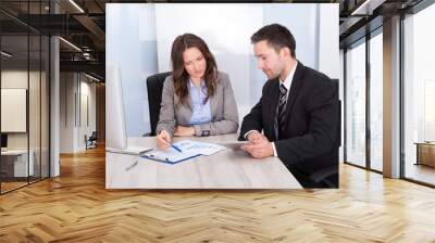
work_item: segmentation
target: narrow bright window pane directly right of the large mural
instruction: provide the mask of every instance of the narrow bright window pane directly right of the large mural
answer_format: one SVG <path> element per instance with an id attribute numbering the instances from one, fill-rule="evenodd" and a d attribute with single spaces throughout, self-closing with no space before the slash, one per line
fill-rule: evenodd
<path id="1" fill-rule="evenodd" d="M 365 166 L 365 43 L 346 55 L 346 159 Z"/>

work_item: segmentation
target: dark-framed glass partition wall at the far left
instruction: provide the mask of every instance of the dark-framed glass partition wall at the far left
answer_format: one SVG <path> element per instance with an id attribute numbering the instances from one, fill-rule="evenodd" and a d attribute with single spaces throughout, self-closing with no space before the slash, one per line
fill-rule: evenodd
<path id="1" fill-rule="evenodd" d="M 16 14 L 47 14 L 49 0 L 0 1 Z M 0 193 L 49 176 L 49 48 L 47 36 L 15 23 L 1 39 Z"/>

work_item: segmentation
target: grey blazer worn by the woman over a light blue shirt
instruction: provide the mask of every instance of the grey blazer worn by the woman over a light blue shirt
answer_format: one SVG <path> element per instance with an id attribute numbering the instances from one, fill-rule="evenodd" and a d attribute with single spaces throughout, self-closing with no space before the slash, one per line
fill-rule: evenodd
<path id="1" fill-rule="evenodd" d="M 237 104 L 234 99 L 233 88 L 225 73 L 217 72 L 216 90 L 210 98 L 212 120 L 208 124 L 194 125 L 195 135 L 201 136 L 202 131 L 209 130 L 210 135 L 233 133 L 238 129 Z M 174 136 L 175 126 L 189 126 L 192 111 L 191 99 L 182 104 L 175 94 L 172 75 L 166 77 L 162 91 L 162 103 L 160 107 L 159 123 L 156 133 L 166 130 L 171 137 Z"/>

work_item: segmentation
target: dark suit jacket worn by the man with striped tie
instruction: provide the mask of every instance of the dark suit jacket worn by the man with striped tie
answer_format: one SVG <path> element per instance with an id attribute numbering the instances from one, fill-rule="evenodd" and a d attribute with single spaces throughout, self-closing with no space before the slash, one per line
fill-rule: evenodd
<path id="1" fill-rule="evenodd" d="M 298 62 L 286 105 L 286 125 L 276 140 L 274 119 L 278 86 L 278 78 L 265 82 L 260 101 L 244 118 L 239 139 L 249 130 L 264 130 L 265 137 L 275 142 L 278 157 L 293 172 L 301 171 L 309 177 L 336 165 L 338 174 L 340 111 L 337 86 L 324 74 Z"/>

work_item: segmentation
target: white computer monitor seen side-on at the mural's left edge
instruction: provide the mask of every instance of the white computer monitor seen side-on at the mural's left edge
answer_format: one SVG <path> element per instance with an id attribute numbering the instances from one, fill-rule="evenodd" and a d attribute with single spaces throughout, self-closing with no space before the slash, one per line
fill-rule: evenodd
<path id="1" fill-rule="evenodd" d="M 112 153 L 141 154 L 152 150 L 127 145 L 121 71 L 105 65 L 105 150 Z"/>

